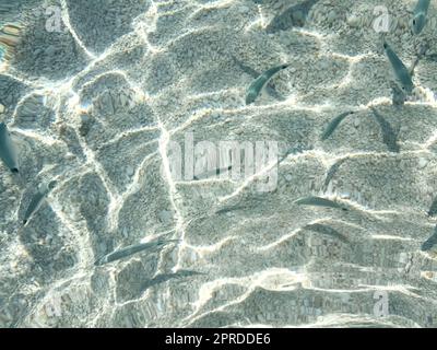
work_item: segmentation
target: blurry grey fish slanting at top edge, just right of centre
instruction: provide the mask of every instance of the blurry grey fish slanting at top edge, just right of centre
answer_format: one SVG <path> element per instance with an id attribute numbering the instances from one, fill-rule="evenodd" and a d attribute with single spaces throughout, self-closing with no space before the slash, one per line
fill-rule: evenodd
<path id="1" fill-rule="evenodd" d="M 284 12 L 273 18 L 265 27 L 265 32 L 272 34 L 279 31 L 286 31 L 293 26 L 304 26 L 309 10 L 311 10 L 318 1 L 319 0 L 306 0 L 302 3 L 290 7 Z"/>

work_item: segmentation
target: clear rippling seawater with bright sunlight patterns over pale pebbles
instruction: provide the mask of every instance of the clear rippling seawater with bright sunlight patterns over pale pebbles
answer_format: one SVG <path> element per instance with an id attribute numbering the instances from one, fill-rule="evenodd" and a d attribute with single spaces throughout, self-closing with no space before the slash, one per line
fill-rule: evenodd
<path id="1" fill-rule="evenodd" d="M 21 27 L 0 68 L 20 161 L 0 168 L 0 326 L 433 327 L 436 4 L 412 35 L 415 2 L 382 2 L 308 1 L 276 27 L 303 2 L 0 0 Z M 403 106 L 382 36 L 409 67 L 430 47 Z"/>

